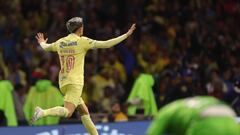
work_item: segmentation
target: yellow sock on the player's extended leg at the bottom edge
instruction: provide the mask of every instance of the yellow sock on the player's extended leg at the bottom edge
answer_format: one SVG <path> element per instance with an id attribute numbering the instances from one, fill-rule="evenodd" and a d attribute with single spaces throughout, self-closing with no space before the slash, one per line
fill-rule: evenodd
<path id="1" fill-rule="evenodd" d="M 98 135 L 97 129 L 93 124 L 90 115 L 81 116 L 82 123 L 90 135 Z"/>

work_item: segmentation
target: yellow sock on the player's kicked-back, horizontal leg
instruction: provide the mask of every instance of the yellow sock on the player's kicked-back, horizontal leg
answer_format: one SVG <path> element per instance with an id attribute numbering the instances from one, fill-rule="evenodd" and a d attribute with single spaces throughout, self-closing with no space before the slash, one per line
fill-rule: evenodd
<path id="1" fill-rule="evenodd" d="M 56 106 L 50 109 L 43 110 L 43 117 L 45 116 L 60 116 L 60 117 L 67 117 L 68 116 L 68 109 L 61 106 Z"/>

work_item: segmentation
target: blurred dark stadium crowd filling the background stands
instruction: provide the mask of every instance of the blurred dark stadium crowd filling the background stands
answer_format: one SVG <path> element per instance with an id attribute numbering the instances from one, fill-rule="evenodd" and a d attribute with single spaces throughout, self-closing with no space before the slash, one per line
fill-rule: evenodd
<path id="1" fill-rule="evenodd" d="M 37 80 L 58 84 L 58 56 L 44 52 L 35 34 L 56 41 L 68 34 L 65 22 L 74 16 L 84 18 L 84 35 L 98 40 L 137 23 L 121 45 L 87 54 L 83 97 L 91 112 L 111 114 L 118 103 L 127 113 L 133 83 L 145 73 L 154 78 L 158 108 L 212 95 L 240 114 L 240 91 L 234 89 L 240 78 L 237 0 L 0 0 L 0 76 L 14 86 L 18 119 L 24 119 L 22 108 Z"/>

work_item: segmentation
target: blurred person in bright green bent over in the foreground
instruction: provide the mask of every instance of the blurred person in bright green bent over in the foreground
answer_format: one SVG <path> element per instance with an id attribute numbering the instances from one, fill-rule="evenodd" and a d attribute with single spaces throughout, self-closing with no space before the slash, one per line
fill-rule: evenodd
<path id="1" fill-rule="evenodd" d="M 147 135 L 240 135 L 235 116 L 213 97 L 180 99 L 160 110 Z"/>

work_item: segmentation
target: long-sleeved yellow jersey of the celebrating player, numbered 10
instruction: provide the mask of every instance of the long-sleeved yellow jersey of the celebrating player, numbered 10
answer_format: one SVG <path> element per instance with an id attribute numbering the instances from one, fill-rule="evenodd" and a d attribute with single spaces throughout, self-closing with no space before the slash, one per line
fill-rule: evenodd
<path id="1" fill-rule="evenodd" d="M 52 44 L 41 43 L 41 47 L 47 51 L 57 52 L 61 64 L 59 72 L 60 88 L 67 84 L 84 84 L 84 59 L 87 51 L 92 48 L 110 48 L 124 39 L 124 34 L 107 41 L 97 41 L 72 33 Z"/>

